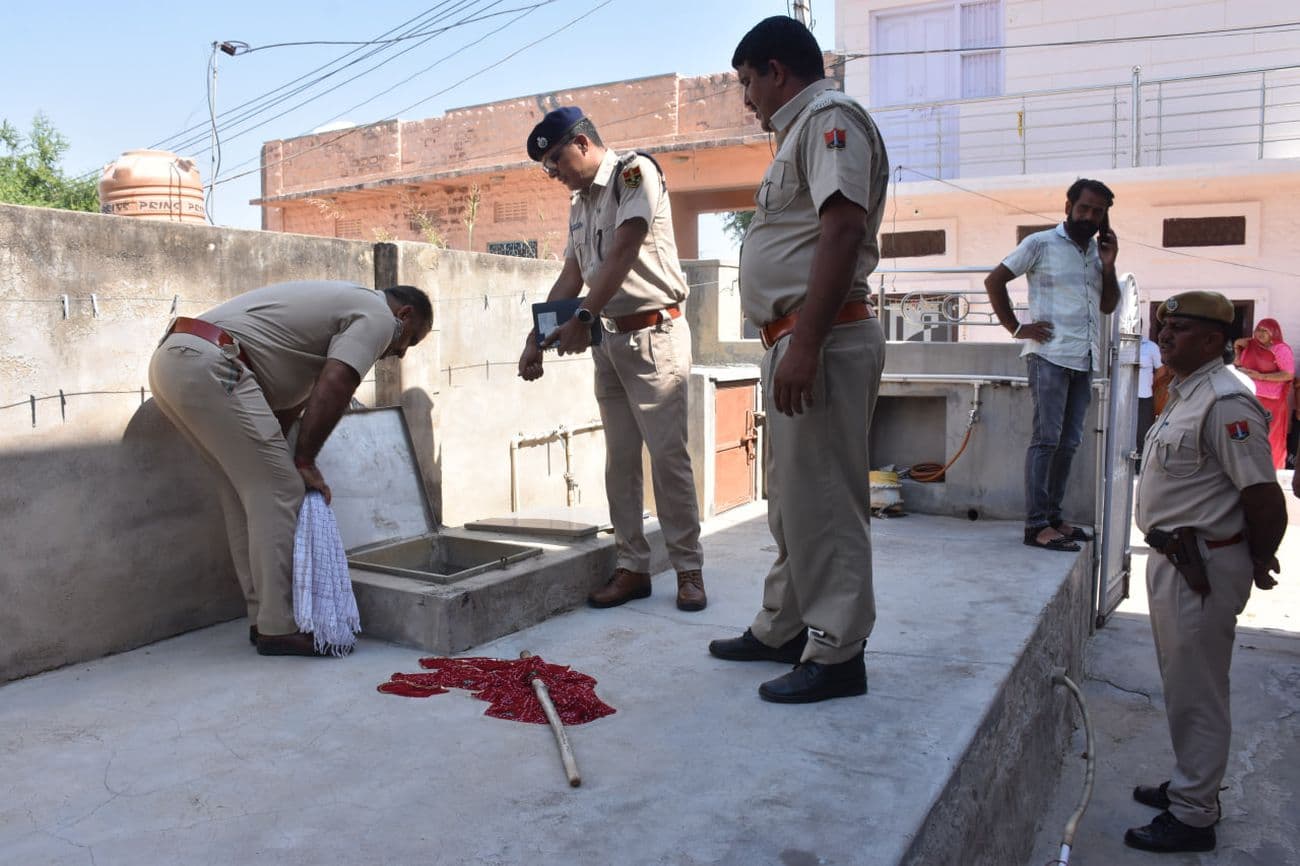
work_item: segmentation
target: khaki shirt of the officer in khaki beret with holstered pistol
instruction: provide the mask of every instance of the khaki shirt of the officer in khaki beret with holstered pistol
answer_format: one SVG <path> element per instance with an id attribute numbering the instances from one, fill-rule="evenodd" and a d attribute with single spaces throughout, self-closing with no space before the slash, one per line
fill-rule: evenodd
<path id="1" fill-rule="evenodd" d="M 1210 541 L 1245 528 L 1242 490 L 1275 484 L 1269 421 L 1222 360 L 1169 386 L 1143 446 L 1138 528 L 1192 527 Z"/>

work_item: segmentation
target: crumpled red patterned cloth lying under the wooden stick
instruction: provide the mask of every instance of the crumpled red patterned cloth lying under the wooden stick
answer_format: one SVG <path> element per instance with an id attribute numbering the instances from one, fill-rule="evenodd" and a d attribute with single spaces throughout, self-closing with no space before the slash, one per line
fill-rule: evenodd
<path id="1" fill-rule="evenodd" d="M 595 697 L 595 679 L 566 664 L 551 664 L 540 655 L 520 659 L 498 658 L 421 658 L 420 667 L 430 674 L 394 674 L 378 687 L 385 694 L 429 697 L 448 689 L 467 689 L 488 701 L 485 711 L 497 719 L 546 724 L 546 714 L 533 692 L 532 679 L 540 677 L 564 724 L 586 724 L 616 713 Z"/>

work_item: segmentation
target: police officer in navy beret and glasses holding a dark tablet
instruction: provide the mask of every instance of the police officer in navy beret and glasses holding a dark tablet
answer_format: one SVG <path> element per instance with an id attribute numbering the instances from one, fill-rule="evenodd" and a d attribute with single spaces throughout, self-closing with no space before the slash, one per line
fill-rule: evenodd
<path id="1" fill-rule="evenodd" d="M 549 300 L 588 294 L 577 313 L 550 334 L 562 355 L 590 346 L 599 319 L 604 335 L 592 347 L 595 398 L 604 424 L 604 492 L 618 566 L 592 593 L 593 607 L 614 607 L 650 594 L 650 545 L 642 528 L 641 446 L 650 453 L 659 524 L 677 571 L 677 607 L 708 603 L 702 576 L 699 507 L 686 451 L 690 329 L 681 315 L 686 277 L 677 261 L 672 211 L 663 173 L 649 156 L 604 147 L 582 109 L 547 113 L 528 137 L 528 155 L 572 192 L 564 269 Z M 530 333 L 519 374 L 542 374 L 542 347 Z"/>

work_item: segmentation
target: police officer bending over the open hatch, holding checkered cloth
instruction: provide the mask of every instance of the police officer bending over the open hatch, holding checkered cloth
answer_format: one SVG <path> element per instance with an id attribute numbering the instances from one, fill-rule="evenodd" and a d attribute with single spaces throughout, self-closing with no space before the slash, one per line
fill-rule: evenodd
<path id="1" fill-rule="evenodd" d="M 230 557 L 263 655 L 317 655 L 294 622 L 294 531 L 316 455 L 380 358 L 429 334 L 412 286 L 282 282 L 177 319 L 150 361 L 164 415 L 217 471 Z M 302 417 L 295 443 L 286 436 Z"/>

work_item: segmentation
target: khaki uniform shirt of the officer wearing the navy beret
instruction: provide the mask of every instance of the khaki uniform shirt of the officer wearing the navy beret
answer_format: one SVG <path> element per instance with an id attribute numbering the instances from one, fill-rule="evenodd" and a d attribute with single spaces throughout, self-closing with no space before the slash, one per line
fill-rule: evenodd
<path id="1" fill-rule="evenodd" d="M 677 260 L 668 192 L 659 169 L 644 156 L 604 151 L 592 186 L 573 194 L 564 257 L 577 259 L 582 281 L 590 285 L 614 248 L 615 230 L 637 217 L 646 221 L 646 237 L 632 270 L 601 311 L 602 316 L 663 309 L 686 299 L 686 276 Z"/>

